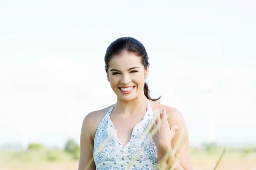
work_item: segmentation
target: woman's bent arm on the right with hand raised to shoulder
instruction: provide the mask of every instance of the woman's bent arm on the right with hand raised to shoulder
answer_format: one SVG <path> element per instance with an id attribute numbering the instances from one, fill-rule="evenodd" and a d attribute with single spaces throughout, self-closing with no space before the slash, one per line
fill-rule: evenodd
<path id="1" fill-rule="evenodd" d="M 164 158 L 165 163 L 171 163 L 170 165 L 173 167 L 173 160 L 177 158 L 178 162 L 174 170 L 192 170 L 188 130 L 186 129 L 186 124 L 180 111 L 163 105 L 153 111 L 156 120 L 153 122 L 152 129 L 154 129 L 160 121 L 164 121 L 157 132 L 152 136 L 157 147 L 158 159 L 163 161 Z M 177 126 L 178 129 L 175 128 Z M 176 150 L 175 155 L 172 154 L 166 158 L 166 153 L 168 151 L 172 153 L 174 148 Z"/>

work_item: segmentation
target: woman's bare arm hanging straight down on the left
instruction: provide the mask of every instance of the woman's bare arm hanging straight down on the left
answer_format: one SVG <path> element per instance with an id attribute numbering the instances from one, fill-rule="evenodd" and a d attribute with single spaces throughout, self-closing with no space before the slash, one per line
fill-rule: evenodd
<path id="1" fill-rule="evenodd" d="M 93 157 L 93 140 L 91 136 L 92 131 L 92 116 L 93 113 L 89 113 L 85 116 L 82 127 L 81 127 L 81 136 L 80 136 L 80 158 L 79 158 L 79 167 L 78 170 L 84 170 L 86 165 L 89 163 L 90 159 Z M 94 161 L 90 162 L 90 166 L 87 170 L 95 170 L 96 166 Z"/>

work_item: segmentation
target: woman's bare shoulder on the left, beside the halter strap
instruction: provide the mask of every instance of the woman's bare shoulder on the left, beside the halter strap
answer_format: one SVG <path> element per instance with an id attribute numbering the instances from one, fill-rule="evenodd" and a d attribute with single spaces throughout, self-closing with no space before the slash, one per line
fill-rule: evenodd
<path id="1" fill-rule="evenodd" d="M 104 116 L 107 114 L 107 112 L 112 106 L 113 105 L 108 106 L 107 108 L 90 112 L 84 117 L 84 120 L 82 123 L 82 130 L 90 129 L 90 137 L 92 142 L 100 122 L 102 121 L 102 119 L 104 118 Z"/>

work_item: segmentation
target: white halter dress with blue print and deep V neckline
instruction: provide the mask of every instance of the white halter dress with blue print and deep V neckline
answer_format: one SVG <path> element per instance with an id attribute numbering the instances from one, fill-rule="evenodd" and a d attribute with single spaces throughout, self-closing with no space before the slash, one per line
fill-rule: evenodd
<path id="1" fill-rule="evenodd" d="M 131 167 L 129 170 L 158 170 L 157 147 L 150 137 L 150 133 L 144 135 L 143 138 L 147 125 L 154 117 L 150 102 L 148 101 L 147 112 L 143 119 L 135 125 L 131 139 L 125 146 L 119 142 L 110 119 L 114 106 L 100 122 L 94 137 L 93 158 L 96 170 L 128 170 L 128 166 Z M 137 156 L 139 152 L 140 155 Z M 137 159 L 134 161 L 136 156 Z"/>

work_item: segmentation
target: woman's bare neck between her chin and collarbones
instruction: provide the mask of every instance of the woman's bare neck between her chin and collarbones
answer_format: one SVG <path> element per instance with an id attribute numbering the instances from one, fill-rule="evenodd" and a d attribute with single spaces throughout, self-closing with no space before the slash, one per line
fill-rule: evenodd
<path id="1" fill-rule="evenodd" d="M 115 110 L 124 115 L 132 115 L 133 113 L 140 113 L 147 111 L 148 99 L 144 95 L 139 95 L 131 101 L 124 101 L 117 98 Z"/>

